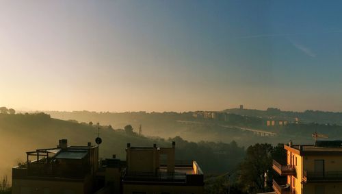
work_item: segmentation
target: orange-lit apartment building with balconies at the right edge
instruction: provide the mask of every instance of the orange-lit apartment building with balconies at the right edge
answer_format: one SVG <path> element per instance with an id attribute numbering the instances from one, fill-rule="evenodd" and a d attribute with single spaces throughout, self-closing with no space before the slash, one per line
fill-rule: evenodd
<path id="1" fill-rule="evenodd" d="M 273 161 L 283 179 L 273 180 L 276 193 L 342 193 L 342 141 L 285 145 L 287 164 Z"/>

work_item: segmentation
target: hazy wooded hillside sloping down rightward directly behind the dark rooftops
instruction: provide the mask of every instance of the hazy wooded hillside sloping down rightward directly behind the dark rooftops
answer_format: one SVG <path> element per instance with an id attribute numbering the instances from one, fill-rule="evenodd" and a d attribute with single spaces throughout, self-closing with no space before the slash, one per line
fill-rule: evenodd
<path id="1" fill-rule="evenodd" d="M 67 138 L 69 145 L 94 144 L 96 125 L 53 119 L 49 114 L 0 114 L 0 175 L 11 174 L 11 168 L 26 160 L 26 151 L 55 147 L 61 138 Z M 100 157 L 111 158 L 116 154 L 125 159 L 127 143 L 133 146 L 171 146 L 176 141 L 176 158 L 197 160 L 207 173 L 220 173 L 235 169 L 244 157 L 244 148 L 232 143 L 193 143 L 179 136 L 170 139 L 148 138 L 138 134 L 127 134 L 124 130 L 113 130 L 101 125 Z M 156 134 L 157 136 L 157 134 Z M 234 156 L 234 157 L 231 157 Z M 207 160 L 211 158 L 211 160 Z"/>

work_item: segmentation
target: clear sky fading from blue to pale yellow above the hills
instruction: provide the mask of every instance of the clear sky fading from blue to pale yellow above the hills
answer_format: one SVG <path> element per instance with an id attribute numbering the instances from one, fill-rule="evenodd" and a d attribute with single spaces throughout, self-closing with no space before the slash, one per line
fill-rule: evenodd
<path id="1" fill-rule="evenodd" d="M 342 111 L 339 1 L 0 1 L 0 106 Z"/>

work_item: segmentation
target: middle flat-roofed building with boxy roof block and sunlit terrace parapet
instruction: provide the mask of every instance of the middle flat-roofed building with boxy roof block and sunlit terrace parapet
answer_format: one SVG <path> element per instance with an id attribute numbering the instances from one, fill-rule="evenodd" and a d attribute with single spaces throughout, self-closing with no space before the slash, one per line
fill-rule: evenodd
<path id="1" fill-rule="evenodd" d="M 127 145 L 124 194 L 202 194 L 203 173 L 196 161 L 175 160 L 172 147 Z"/>

